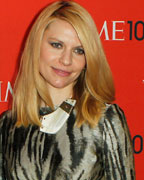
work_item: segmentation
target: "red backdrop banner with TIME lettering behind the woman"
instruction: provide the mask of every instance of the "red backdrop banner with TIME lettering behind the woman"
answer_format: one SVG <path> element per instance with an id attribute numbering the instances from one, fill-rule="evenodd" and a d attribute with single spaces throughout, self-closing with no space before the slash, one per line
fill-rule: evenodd
<path id="1" fill-rule="evenodd" d="M 22 42 L 35 15 L 50 0 L 7 0 L 0 5 L 0 113 L 8 109 Z M 144 179 L 144 1 L 76 0 L 97 25 L 111 66 L 116 101 L 130 128 L 136 179 Z"/>

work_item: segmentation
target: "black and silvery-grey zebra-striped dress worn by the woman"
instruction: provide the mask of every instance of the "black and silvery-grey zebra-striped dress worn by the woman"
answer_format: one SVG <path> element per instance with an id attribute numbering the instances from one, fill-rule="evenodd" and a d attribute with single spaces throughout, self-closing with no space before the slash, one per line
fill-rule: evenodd
<path id="1" fill-rule="evenodd" d="M 48 110 L 40 110 L 41 115 Z M 123 111 L 108 106 L 96 128 L 74 126 L 75 110 L 56 134 L 15 127 L 0 118 L 0 180 L 134 180 L 131 138 Z"/>

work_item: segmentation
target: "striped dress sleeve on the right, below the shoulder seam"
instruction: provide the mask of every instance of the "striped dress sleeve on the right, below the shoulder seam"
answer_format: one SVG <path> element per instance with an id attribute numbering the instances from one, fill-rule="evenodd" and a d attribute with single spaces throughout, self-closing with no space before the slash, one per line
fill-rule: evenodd
<path id="1" fill-rule="evenodd" d="M 105 113 L 103 146 L 105 180 L 135 180 L 130 132 L 125 115 L 116 104 Z"/>

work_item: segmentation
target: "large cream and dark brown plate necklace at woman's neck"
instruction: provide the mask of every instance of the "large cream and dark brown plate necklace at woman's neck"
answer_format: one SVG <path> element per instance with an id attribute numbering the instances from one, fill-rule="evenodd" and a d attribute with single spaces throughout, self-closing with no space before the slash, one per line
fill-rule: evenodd
<path id="1" fill-rule="evenodd" d="M 42 116 L 40 131 L 49 134 L 57 133 L 69 118 L 75 104 L 76 100 L 67 99 L 55 111 Z"/>

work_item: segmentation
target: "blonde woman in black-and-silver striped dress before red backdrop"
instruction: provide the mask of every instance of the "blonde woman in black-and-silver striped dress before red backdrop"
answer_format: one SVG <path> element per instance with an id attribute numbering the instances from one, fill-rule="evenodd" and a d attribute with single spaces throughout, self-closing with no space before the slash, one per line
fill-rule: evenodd
<path id="1" fill-rule="evenodd" d="M 34 23 L 1 115 L 2 180 L 133 180 L 133 151 L 99 35 L 73 1 Z"/>

